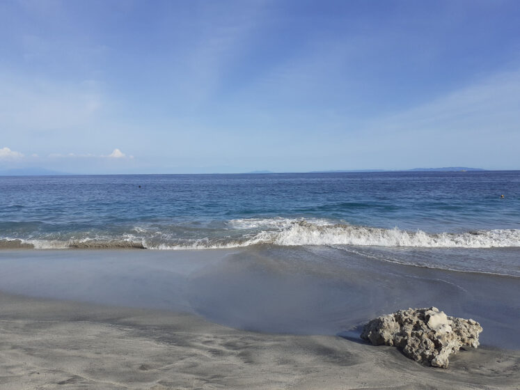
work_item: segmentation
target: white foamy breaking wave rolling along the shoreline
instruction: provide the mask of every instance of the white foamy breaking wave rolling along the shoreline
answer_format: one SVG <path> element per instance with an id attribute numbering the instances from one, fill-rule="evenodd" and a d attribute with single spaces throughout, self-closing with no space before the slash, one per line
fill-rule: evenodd
<path id="1" fill-rule="evenodd" d="M 204 231 L 207 233 L 207 231 Z M 204 233 L 201 231 L 201 233 Z M 234 219 L 210 237 L 180 237 L 171 232 L 134 226 L 118 237 L 75 240 L 4 237 L 0 248 L 34 249 L 226 249 L 257 244 L 278 246 L 352 245 L 373 247 L 497 248 L 520 247 L 519 229 L 426 233 L 399 228 L 375 228 L 335 224 L 326 219 Z"/>

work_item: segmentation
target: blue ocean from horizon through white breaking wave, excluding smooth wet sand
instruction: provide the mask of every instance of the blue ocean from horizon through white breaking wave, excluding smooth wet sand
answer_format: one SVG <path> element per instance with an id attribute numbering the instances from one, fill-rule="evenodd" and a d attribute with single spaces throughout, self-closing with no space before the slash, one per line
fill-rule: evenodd
<path id="1" fill-rule="evenodd" d="M 258 244 L 520 274 L 520 171 L 0 178 L 0 247 Z"/>

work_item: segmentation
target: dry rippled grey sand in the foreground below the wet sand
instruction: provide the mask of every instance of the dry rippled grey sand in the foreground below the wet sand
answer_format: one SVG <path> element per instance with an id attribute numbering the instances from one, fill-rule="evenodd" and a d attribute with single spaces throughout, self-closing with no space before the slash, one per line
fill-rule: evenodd
<path id="1" fill-rule="evenodd" d="M 519 389 L 519 351 L 447 370 L 338 336 L 240 331 L 194 315 L 0 294 L 0 389 Z"/>

